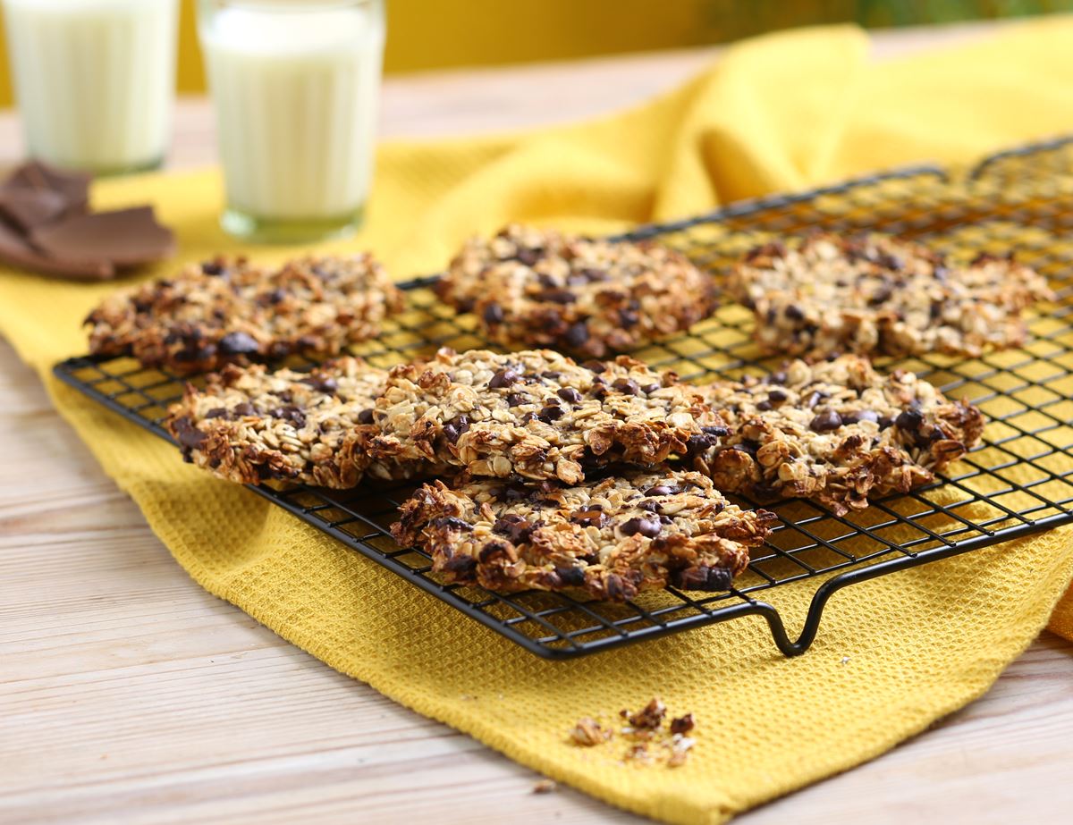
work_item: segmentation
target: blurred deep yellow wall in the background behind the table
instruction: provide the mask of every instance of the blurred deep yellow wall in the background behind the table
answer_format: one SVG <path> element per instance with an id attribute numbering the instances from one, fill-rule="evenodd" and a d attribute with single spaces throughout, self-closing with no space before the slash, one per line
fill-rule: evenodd
<path id="1" fill-rule="evenodd" d="M 721 43 L 771 29 L 871 26 L 1055 11 L 1068 0 L 386 0 L 388 72 Z M 181 0 L 178 88 L 205 88 L 195 0 Z M 0 27 L 2 28 L 2 27 Z M 0 106 L 12 102 L 0 41 Z"/>

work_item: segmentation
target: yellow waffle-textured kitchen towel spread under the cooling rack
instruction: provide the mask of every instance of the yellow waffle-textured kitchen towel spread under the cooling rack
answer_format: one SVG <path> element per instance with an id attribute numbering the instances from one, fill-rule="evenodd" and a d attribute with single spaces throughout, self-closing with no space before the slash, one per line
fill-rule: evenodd
<path id="1" fill-rule="evenodd" d="M 384 146 L 368 225 L 336 246 L 371 248 L 406 276 L 508 219 L 615 230 L 876 167 L 965 163 L 1073 131 L 1071 46 L 1068 19 L 882 64 L 852 28 L 762 38 L 682 88 L 590 123 Z M 217 229 L 216 172 L 94 190 L 100 205 L 146 198 L 175 226 L 183 259 L 236 248 Z M 666 822 L 723 822 L 925 730 L 987 690 L 1073 579 L 1073 532 L 1060 529 L 839 593 L 800 658 L 779 654 L 750 618 L 545 662 L 53 381 L 48 368 L 85 350 L 79 321 L 112 289 L 3 274 L 0 329 L 195 580 L 416 711 Z M 813 588 L 778 591 L 792 628 Z M 1073 636 L 1071 615 L 1054 627 Z M 568 742 L 579 717 L 653 694 L 697 720 L 685 766 L 623 764 L 619 745 Z"/>

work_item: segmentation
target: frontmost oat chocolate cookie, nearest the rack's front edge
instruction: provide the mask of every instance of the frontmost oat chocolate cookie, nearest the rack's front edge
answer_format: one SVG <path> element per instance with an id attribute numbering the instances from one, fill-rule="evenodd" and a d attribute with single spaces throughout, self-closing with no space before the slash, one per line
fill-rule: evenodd
<path id="1" fill-rule="evenodd" d="M 451 581 L 623 601 L 666 585 L 726 590 L 774 520 L 729 503 L 700 473 L 630 471 L 574 487 L 426 484 L 392 535 Z"/>

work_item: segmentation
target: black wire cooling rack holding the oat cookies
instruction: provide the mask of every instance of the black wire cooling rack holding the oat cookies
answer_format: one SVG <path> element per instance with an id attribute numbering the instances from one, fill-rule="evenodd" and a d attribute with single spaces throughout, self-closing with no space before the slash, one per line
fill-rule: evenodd
<path id="1" fill-rule="evenodd" d="M 878 230 L 923 239 L 954 255 L 1014 250 L 1046 275 L 1058 294 L 1055 304 L 1030 313 L 1031 337 L 1021 350 L 972 359 L 936 355 L 881 362 L 881 369 L 912 370 L 949 396 L 978 404 L 989 421 L 984 444 L 949 468 L 939 483 L 881 499 L 865 511 L 839 516 L 804 500 L 774 507 L 778 526 L 729 592 L 667 588 L 611 604 L 570 594 L 503 595 L 447 585 L 430 573 L 426 555 L 396 546 L 387 534 L 412 487 L 250 489 L 542 657 L 576 657 L 750 615 L 767 621 L 783 653 L 799 654 L 815 638 L 827 601 L 842 588 L 1073 521 L 1071 141 L 1003 152 L 957 178 L 937 167 L 917 167 L 734 204 L 630 233 L 658 236 L 718 278 L 738 254 L 771 235 L 818 227 Z M 429 290 L 433 281 L 405 284 L 409 308 L 376 341 L 353 348 L 353 353 L 392 366 L 441 345 L 487 347 L 471 316 L 456 315 L 436 300 Z M 750 341 L 751 325 L 749 312 L 729 305 L 688 335 L 634 354 L 687 380 L 763 374 L 778 359 L 760 357 Z M 72 358 L 55 372 L 168 439 L 160 422 L 167 404 L 180 396 L 181 379 L 144 369 L 130 358 Z M 800 587 L 810 588 L 811 596 L 802 630 L 792 638 L 773 602 L 782 595 L 780 588 Z M 799 599 L 794 593 L 794 603 Z"/>

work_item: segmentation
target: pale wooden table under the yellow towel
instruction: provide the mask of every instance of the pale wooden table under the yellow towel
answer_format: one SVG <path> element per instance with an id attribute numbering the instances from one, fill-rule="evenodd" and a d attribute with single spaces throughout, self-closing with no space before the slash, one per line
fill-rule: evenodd
<path id="1" fill-rule="evenodd" d="M 989 26 L 880 33 L 877 58 Z M 389 79 L 385 135 L 568 120 L 718 50 Z M 173 166 L 211 162 L 203 101 Z M 0 117 L 0 162 L 19 157 Z M 201 590 L 0 344 L 0 822 L 593 823 L 637 817 L 395 705 Z M 1073 644 L 1044 633 L 982 699 L 743 825 L 1069 821 Z"/>

